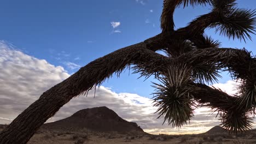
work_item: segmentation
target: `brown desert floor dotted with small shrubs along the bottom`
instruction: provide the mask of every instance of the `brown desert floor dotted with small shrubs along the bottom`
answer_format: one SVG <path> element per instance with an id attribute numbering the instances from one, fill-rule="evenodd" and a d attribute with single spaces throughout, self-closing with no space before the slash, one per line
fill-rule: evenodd
<path id="1" fill-rule="evenodd" d="M 0 131 L 4 126 L 1 125 Z M 238 144 L 238 143 L 256 143 L 256 133 L 252 131 L 248 134 L 241 134 L 236 136 L 215 133 L 215 134 L 197 134 L 197 135 L 149 135 L 149 134 L 118 134 L 114 132 L 100 133 L 88 130 L 78 131 L 56 131 L 56 130 L 38 130 L 31 138 L 28 144 L 117 144 L 117 143 L 132 143 L 132 144 L 156 144 L 156 143 L 216 143 L 216 144 Z"/>

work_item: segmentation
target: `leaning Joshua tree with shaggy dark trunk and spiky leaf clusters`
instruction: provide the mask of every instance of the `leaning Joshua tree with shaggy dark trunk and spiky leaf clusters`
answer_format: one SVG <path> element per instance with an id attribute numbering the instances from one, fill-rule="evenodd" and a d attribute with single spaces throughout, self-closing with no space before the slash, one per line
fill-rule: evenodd
<path id="1" fill-rule="evenodd" d="M 174 30 L 177 7 L 205 4 L 211 5 L 210 13 Z M 255 20 L 255 11 L 237 8 L 235 0 L 165 0 L 160 34 L 98 58 L 44 92 L 2 131 L 0 143 L 26 143 L 61 106 L 130 65 L 135 73 L 160 81 L 153 99 L 159 115 L 173 127 L 186 124 L 197 106 L 208 106 L 218 112 L 225 129 L 235 134 L 248 130 L 256 106 L 256 59 L 245 49 L 220 48 L 204 31 L 216 28 L 226 37 L 247 40 Z M 206 85 L 217 81 L 222 71 L 241 82 L 236 95 Z"/>

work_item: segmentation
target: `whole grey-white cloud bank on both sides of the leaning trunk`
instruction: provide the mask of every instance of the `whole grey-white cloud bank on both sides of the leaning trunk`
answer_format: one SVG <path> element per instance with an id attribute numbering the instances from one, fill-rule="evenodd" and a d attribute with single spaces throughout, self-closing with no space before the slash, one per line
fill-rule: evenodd
<path id="1" fill-rule="evenodd" d="M 44 59 L 37 59 L 15 50 L 0 41 L 0 123 L 10 123 L 20 112 L 32 104 L 39 96 L 70 75 L 62 67 L 54 66 Z M 226 86 L 226 85 L 224 85 Z M 223 86 L 222 86 L 223 87 Z M 157 107 L 152 100 L 138 94 L 115 93 L 106 87 L 90 91 L 88 97 L 79 95 L 64 105 L 56 115 L 48 120 L 53 122 L 71 116 L 81 109 L 107 106 L 127 121 L 136 122 L 144 131 L 153 134 L 202 133 L 218 125 L 216 115 L 209 115 L 210 109 L 195 110 L 195 118 L 181 129 L 172 129 L 158 117 Z"/>

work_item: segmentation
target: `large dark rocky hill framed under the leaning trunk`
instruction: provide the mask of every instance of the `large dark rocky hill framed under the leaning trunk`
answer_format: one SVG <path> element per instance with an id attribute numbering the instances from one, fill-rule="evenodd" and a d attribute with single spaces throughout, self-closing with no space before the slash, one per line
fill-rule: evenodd
<path id="1" fill-rule="evenodd" d="M 129 133 L 136 131 L 145 133 L 136 123 L 125 121 L 106 106 L 80 110 L 60 121 L 46 123 L 42 128 L 62 130 L 87 128 L 101 132 L 117 131 L 118 133 Z"/>

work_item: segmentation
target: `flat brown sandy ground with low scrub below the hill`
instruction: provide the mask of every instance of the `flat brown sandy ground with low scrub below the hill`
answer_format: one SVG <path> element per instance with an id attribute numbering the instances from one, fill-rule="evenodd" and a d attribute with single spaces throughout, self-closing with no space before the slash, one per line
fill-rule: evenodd
<path id="1" fill-rule="evenodd" d="M 81 143 L 78 142 L 78 139 L 81 139 Z M 83 138 L 84 137 L 84 138 Z M 219 135 L 213 136 L 202 136 L 202 135 L 179 135 L 179 136 L 166 136 L 166 135 L 120 135 L 120 134 L 83 134 L 83 133 L 40 133 L 32 137 L 29 144 L 38 143 L 38 144 L 68 144 L 68 143 L 103 143 L 103 144 L 170 144 L 170 143 L 191 143 L 191 144 L 238 144 L 238 143 L 256 143 L 256 139 L 229 139 L 223 138 Z"/>

